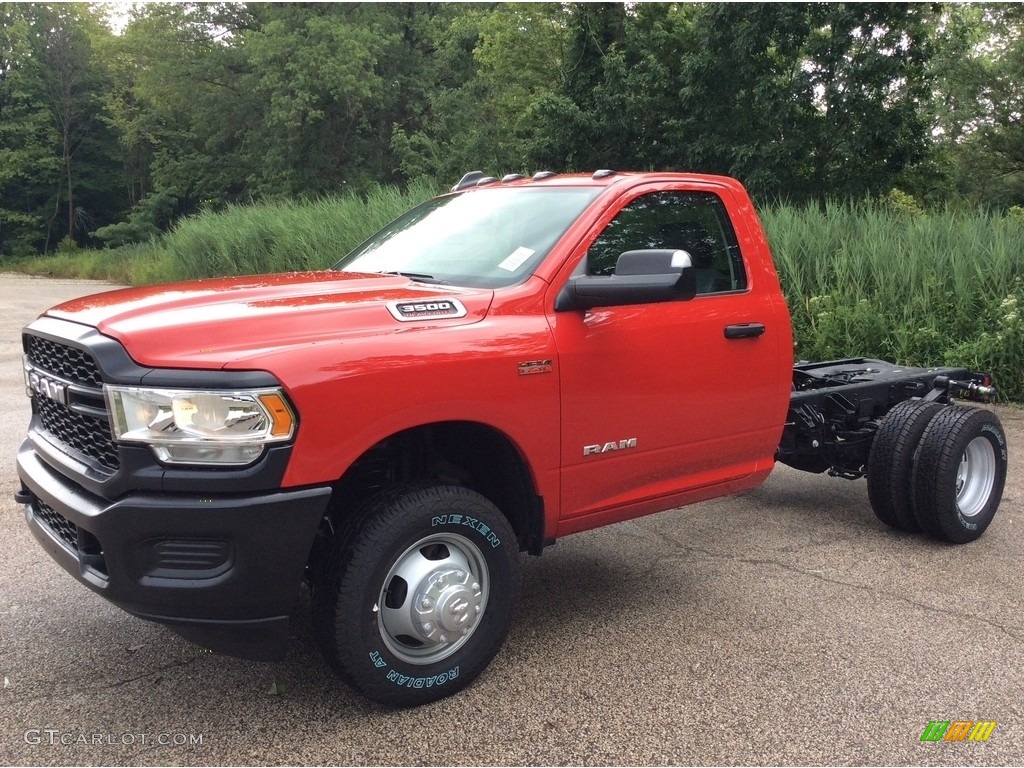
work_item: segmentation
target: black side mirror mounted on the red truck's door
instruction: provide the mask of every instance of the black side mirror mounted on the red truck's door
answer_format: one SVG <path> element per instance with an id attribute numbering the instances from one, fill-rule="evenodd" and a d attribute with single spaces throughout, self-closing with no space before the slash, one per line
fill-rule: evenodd
<path id="1" fill-rule="evenodd" d="M 696 293 L 696 272 L 686 251 L 627 251 L 615 262 L 614 274 L 570 278 L 555 299 L 555 311 L 680 301 Z"/>

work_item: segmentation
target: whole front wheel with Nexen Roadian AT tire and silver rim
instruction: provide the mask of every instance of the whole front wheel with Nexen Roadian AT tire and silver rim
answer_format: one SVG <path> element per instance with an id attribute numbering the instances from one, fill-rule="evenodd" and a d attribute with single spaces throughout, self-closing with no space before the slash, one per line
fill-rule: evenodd
<path id="1" fill-rule="evenodd" d="M 398 488 L 342 524 L 314 585 L 314 631 L 368 698 L 426 703 L 486 668 L 519 583 L 515 534 L 494 504 L 457 486 Z"/>

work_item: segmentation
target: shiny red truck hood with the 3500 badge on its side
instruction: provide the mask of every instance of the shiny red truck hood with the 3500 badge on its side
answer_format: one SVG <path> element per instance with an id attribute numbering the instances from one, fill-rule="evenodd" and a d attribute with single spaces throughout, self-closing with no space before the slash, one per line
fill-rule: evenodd
<path id="1" fill-rule="evenodd" d="M 85 296 L 46 312 L 96 328 L 155 368 L 221 368 L 284 347 L 478 323 L 494 291 L 398 275 L 290 272 Z"/>

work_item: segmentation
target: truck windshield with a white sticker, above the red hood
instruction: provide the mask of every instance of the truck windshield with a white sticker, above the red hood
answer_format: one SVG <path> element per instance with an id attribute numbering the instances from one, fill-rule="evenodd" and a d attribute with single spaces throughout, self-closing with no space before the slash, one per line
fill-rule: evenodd
<path id="1" fill-rule="evenodd" d="M 600 187 L 505 187 L 429 200 L 334 265 L 502 288 L 532 273 Z"/>

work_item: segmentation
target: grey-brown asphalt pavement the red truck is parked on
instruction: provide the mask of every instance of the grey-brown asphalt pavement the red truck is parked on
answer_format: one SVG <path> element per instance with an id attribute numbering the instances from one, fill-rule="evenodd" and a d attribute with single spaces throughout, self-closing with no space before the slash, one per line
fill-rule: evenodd
<path id="1" fill-rule="evenodd" d="M 1019 765 L 1024 412 L 1001 508 L 953 547 L 880 523 L 864 482 L 761 488 L 523 556 L 505 648 L 469 689 L 388 711 L 309 637 L 285 662 L 204 652 L 80 586 L 13 501 L 22 326 L 110 288 L 0 274 L 0 763 Z M 931 721 L 995 721 L 923 742 Z"/>

